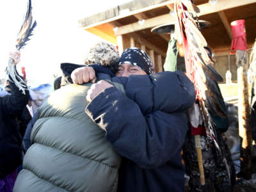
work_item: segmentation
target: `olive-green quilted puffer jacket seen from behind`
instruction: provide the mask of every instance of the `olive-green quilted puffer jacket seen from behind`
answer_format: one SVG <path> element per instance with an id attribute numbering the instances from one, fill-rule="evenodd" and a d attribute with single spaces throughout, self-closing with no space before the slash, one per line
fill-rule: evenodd
<path id="1" fill-rule="evenodd" d="M 121 158 L 84 109 L 91 84 L 44 100 L 13 191 L 116 191 Z"/>

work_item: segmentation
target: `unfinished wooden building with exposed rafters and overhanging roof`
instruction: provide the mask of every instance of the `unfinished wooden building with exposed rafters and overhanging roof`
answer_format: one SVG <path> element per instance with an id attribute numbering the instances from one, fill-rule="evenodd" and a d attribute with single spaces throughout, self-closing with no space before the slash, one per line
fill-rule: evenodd
<path id="1" fill-rule="evenodd" d="M 202 34 L 215 53 L 216 70 L 225 79 L 230 70 L 236 81 L 235 56 L 230 55 L 232 31 L 230 22 L 244 19 L 248 49 L 256 38 L 256 0 L 195 0 L 200 8 L 200 20 L 211 22 Z M 170 35 L 157 35 L 151 29 L 174 20 L 173 0 L 134 0 L 104 12 L 79 20 L 86 31 L 118 45 L 120 52 L 127 47 L 140 47 L 147 51 L 156 65 L 156 72 L 163 70 Z"/>

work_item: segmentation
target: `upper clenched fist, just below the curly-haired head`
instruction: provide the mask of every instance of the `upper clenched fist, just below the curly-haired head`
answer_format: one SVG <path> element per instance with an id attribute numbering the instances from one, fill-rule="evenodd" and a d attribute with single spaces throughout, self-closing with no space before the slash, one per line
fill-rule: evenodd
<path id="1" fill-rule="evenodd" d="M 95 83 L 97 77 L 92 67 L 79 67 L 72 72 L 71 79 L 76 84 L 83 84 L 88 82 Z"/>

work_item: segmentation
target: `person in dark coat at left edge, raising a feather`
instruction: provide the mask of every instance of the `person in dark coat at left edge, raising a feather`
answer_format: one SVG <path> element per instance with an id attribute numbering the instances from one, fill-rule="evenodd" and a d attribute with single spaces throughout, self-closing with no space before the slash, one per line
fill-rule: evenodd
<path id="1" fill-rule="evenodd" d="M 19 52 L 11 53 L 10 58 L 14 64 L 19 63 Z M 5 191 L 12 191 L 14 181 L 17 177 L 17 168 L 22 164 L 21 136 L 17 115 L 28 104 L 29 92 L 22 91 L 12 83 L 10 78 L 10 89 L 12 94 L 0 98 L 0 183 Z"/>

